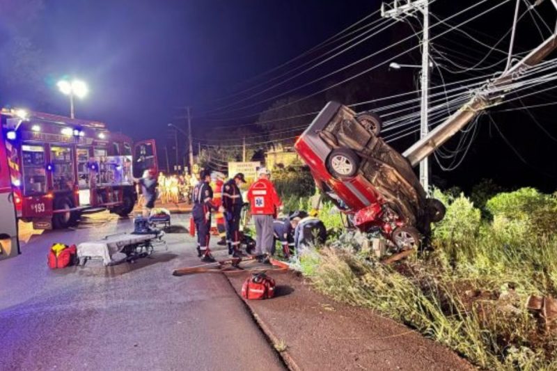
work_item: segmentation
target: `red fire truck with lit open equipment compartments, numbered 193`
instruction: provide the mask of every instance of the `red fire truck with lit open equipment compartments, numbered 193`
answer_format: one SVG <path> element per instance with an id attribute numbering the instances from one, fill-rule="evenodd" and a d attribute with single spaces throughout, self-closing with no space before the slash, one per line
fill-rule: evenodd
<path id="1" fill-rule="evenodd" d="M 0 175 L 9 176 L 0 191 L 11 188 L 17 218 L 36 229 L 76 226 L 82 213 L 102 210 L 127 216 L 134 178 L 157 170 L 154 140 L 134 143 L 104 123 L 15 109 L 0 119 Z"/>

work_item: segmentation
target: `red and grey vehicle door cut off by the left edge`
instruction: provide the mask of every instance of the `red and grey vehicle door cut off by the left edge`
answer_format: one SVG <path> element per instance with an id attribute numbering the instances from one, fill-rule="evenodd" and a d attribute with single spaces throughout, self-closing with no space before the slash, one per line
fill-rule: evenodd
<path id="1" fill-rule="evenodd" d="M 6 143 L 0 143 L 0 260 L 19 254 L 17 239 L 17 216 L 6 156 Z"/>

